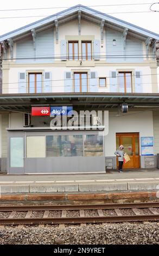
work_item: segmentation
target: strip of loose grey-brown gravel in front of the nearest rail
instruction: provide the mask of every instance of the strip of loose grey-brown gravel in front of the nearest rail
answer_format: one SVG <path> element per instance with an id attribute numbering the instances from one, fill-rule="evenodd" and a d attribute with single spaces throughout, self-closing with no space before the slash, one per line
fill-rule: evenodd
<path id="1" fill-rule="evenodd" d="M 86 227 L 69 225 L 63 229 L 50 227 L 0 229 L 0 244 L 54 244 L 63 239 L 65 245 L 152 245 L 159 244 L 159 224 L 143 223 L 104 223 L 87 224 Z M 61 244 L 62 244 L 61 243 Z"/>

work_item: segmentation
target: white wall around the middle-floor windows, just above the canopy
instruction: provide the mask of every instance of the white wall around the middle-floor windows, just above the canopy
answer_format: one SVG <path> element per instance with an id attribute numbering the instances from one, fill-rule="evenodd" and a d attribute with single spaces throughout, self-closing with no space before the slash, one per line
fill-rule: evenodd
<path id="1" fill-rule="evenodd" d="M 26 72 L 27 70 L 41 70 L 45 72 L 52 72 L 52 92 L 53 93 L 63 93 L 65 92 L 64 90 L 64 74 L 65 72 L 73 71 L 75 70 L 85 70 L 88 71 L 97 71 L 97 76 L 98 77 L 107 77 L 107 87 L 106 88 L 99 88 L 98 87 L 98 92 L 110 92 L 110 71 L 113 70 L 128 70 L 131 69 L 133 71 L 135 70 L 141 70 L 143 75 L 146 74 L 151 74 L 151 70 L 149 66 L 134 66 L 131 64 L 125 64 L 120 66 L 115 65 L 115 66 L 92 66 L 92 67 L 81 67 L 76 66 L 76 67 L 63 67 L 63 66 L 44 66 L 44 64 L 41 64 L 40 66 L 30 66 L 29 68 L 10 68 L 9 70 L 9 93 L 18 93 L 18 72 Z M 132 76 L 132 84 L 134 85 L 133 81 L 133 76 Z M 142 76 L 142 83 L 143 83 L 143 93 L 152 93 L 152 86 L 151 86 L 151 76 Z"/>

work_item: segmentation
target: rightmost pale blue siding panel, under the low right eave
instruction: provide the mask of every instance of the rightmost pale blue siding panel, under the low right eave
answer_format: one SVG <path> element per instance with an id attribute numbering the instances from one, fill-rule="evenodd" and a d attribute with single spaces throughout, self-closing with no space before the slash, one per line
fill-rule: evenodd
<path id="1" fill-rule="evenodd" d="M 126 39 L 127 62 L 143 62 L 143 44 L 140 40 Z"/>

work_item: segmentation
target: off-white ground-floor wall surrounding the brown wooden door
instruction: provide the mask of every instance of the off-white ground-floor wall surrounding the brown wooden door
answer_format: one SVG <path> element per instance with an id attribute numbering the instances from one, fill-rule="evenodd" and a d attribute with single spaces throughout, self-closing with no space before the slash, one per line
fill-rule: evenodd
<path id="1" fill-rule="evenodd" d="M 141 155 L 141 137 L 153 137 L 152 111 L 128 112 L 123 117 L 114 117 L 117 113 L 109 112 L 109 133 L 105 138 L 105 156 L 115 156 L 116 133 L 139 132 L 139 152 Z"/>

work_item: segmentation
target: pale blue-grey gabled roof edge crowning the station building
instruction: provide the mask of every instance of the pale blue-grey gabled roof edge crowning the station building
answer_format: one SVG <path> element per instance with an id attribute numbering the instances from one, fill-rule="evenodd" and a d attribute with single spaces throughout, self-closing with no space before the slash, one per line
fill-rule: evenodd
<path id="1" fill-rule="evenodd" d="M 9 38 L 14 38 L 17 35 L 20 35 L 20 34 L 30 31 L 31 29 L 35 29 L 35 28 L 47 25 L 48 23 L 53 22 L 55 20 L 62 19 L 63 17 L 65 17 L 67 15 L 72 15 L 74 13 L 77 13 L 79 10 L 81 11 L 81 13 L 88 14 L 90 16 L 96 17 L 101 20 L 105 20 L 107 22 L 113 23 L 114 25 L 117 25 L 120 27 L 128 28 L 137 34 L 141 34 L 141 35 L 159 40 L 159 34 L 148 31 L 147 29 L 138 27 L 129 22 L 117 19 L 116 17 L 101 13 L 100 11 L 94 10 L 92 8 L 85 7 L 84 5 L 78 4 L 78 5 L 75 5 L 74 7 L 60 11 L 59 13 L 56 13 L 54 15 L 50 15 L 50 16 L 48 16 L 44 19 L 41 19 L 39 21 L 30 23 L 27 26 L 24 26 L 24 27 L 15 29 L 14 31 L 11 31 L 9 33 L 3 34 L 0 36 L 0 41 L 4 41 Z"/>

